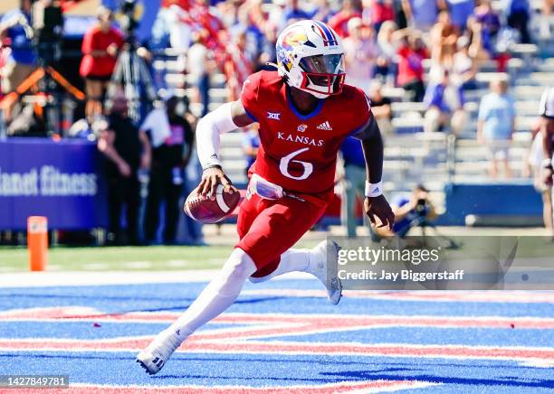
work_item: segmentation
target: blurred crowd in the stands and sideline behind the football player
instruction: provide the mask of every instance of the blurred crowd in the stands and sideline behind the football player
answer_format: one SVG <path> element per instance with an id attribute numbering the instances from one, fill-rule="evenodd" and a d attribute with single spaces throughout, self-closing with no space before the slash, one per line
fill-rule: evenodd
<path id="1" fill-rule="evenodd" d="M 239 98 L 251 73 L 272 70 L 277 36 L 301 19 L 343 38 L 347 83 L 367 93 L 385 136 L 386 190 L 415 190 L 398 210 L 428 199 L 435 217 L 445 184 L 519 182 L 541 161 L 535 135 L 540 93 L 554 75 L 552 0 L 7 3 L 0 138 L 96 143 L 107 159 L 113 243 L 202 243 L 196 223 L 177 220 L 200 176 L 196 119 Z M 258 145 L 255 127 L 224 136 L 224 167 L 239 186 Z M 349 235 L 362 166 L 359 146 L 347 141 L 337 193 Z"/>

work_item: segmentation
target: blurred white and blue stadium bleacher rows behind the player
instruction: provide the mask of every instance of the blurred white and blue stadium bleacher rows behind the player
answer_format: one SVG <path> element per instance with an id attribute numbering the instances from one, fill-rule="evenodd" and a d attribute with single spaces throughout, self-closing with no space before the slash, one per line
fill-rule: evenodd
<path id="1" fill-rule="evenodd" d="M 516 133 L 510 147 L 513 182 L 521 182 L 523 164 L 530 145 L 530 130 L 536 122 L 537 108 L 542 90 L 551 83 L 554 75 L 554 38 L 545 37 L 539 32 L 545 21 L 539 13 L 541 2 L 532 1 L 535 9 L 531 33 L 536 38 L 534 44 L 516 44 L 511 49 L 508 61 L 511 96 L 517 108 Z M 272 6 L 264 4 L 264 7 Z M 501 2 L 493 1 L 500 9 Z M 550 31 L 554 30 L 554 18 L 549 16 Z M 167 49 L 153 62 L 158 78 L 163 79 L 167 87 L 177 90 L 177 94 L 191 96 L 194 80 L 183 73 L 186 64 L 184 53 Z M 424 62 L 428 76 L 430 61 Z M 477 89 L 466 90 L 464 109 L 469 120 L 459 138 L 452 139 L 443 133 L 423 133 L 425 105 L 410 102 L 404 89 L 385 87 L 383 93 L 393 101 L 392 124 L 396 133 L 387 136 L 385 150 L 385 188 L 387 193 L 407 192 L 414 184 L 423 182 L 433 192 L 439 206 L 445 204 L 445 185 L 449 183 L 491 183 L 487 173 L 488 160 L 486 148 L 477 143 L 476 125 L 479 101 L 488 92 L 488 83 L 497 76 L 495 61 L 481 61 L 476 75 Z M 428 77 L 426 77 L 428 78 Z M 212 110 L 228 98 L 224 74 L 211 75 L 209 90 Z M 195 115 L 202 113 L 202 105 L 193 103 L 191 110 Z M 223 136 L 221 155 L 229 176 L 239 186 L 244 186 L 246 160 L 241 148 L 240 132 Z M 511 181 L 510 181 L 511 182 Z M 530 180 L 528 180 L 530 184 Z"/>

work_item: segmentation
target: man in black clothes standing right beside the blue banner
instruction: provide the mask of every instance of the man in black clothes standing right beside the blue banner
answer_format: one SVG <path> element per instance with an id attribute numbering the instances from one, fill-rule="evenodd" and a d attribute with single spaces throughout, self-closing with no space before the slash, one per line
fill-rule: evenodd
<path id="1" fill-rule="evenodd" d="M 100 132 L 98 148 L 108 161 L 109 228 L 112 245 L 139 244 L 139 168 L 150 166 L 148 136 L 127 115 L 127 98 L 122 92 L 111 100 L 107 127 Z M 121 211 L 125 206 L 127 229 L 121 230 Z"/>

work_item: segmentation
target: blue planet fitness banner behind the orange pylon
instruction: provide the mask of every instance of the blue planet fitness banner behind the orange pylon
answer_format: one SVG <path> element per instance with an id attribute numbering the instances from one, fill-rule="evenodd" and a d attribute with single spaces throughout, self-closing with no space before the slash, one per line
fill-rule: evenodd
<path id="1" fill-rule="evenodd" d="M 32 215 L 46 216 L 50 229 L 105 227 L 105 200 L 96 144 L 0 141 L 0 230 L 24 230 Z"/>

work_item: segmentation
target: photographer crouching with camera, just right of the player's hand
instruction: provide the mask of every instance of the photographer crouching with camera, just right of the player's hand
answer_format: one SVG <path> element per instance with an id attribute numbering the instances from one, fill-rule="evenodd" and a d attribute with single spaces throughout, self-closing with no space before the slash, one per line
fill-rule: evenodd
<path id="1" fill-rule="evenodd" d="M 392 230 L 386 227 L 375 228 L 377 236 L 404 238 L 413 227 L 433 226 L 431 221 L 435 220 L 436 212 L 428 194 L 425 186 L 419 183 L 410 195 L 401 195 L 393 199 L 390 206 L 395 213 L 395 224 Z"/>

